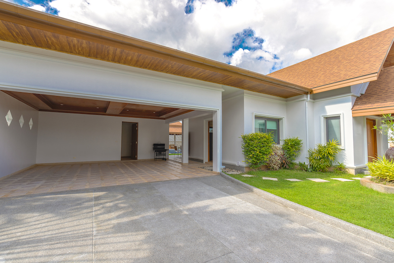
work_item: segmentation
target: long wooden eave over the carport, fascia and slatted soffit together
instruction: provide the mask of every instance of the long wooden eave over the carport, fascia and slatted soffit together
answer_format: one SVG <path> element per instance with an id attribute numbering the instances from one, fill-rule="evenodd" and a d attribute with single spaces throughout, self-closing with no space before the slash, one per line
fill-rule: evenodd
<path id="1" fill-rule="evenodd" d="M 0 40 L 227 85 L 281 98 L 310 89 L 0 0 Z"/>

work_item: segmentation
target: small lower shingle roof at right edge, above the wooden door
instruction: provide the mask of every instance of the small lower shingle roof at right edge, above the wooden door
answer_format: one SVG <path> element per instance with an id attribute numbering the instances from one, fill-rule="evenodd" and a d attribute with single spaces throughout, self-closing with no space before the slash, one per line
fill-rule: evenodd
<path id="1" fill-rule="evenodd" d="M 394 113 L 394 66 L 386 67 L 377 81 L 370 82 L 352 108 L 353 117 L 383 113 Z"/>

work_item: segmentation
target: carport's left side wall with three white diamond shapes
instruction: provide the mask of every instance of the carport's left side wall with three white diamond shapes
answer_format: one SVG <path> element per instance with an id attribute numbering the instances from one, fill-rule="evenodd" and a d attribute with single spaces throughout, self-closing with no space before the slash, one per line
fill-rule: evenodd
<path id="1" fill-rule="evenodd" d="M 12 121 L 8 126 L 5 116 L 11 111 Z M 0 92 L 0 177 L 35 164 L 37 150 L 38 111 Z M 23 116 L 21 128 L 19 119 Z M 29 121 L 33 127 L 30 129 Z"/>

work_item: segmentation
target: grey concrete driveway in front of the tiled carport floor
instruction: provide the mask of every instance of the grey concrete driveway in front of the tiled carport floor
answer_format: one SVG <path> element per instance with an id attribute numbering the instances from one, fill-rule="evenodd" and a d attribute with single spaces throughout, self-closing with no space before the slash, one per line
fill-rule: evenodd
<path id="1" fill-rule="evenodd" d="M 3 197 L 0 233 L 0 263 L 394 259 L 391 249 L 220 175 Z"/>

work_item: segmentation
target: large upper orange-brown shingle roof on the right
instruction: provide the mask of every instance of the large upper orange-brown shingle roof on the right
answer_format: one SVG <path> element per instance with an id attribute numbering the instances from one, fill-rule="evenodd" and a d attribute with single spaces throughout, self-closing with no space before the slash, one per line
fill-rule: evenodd
<path id="1" fill-rule="evenodd" d="M 394 27 L 268 76 L 310 88 L 313 93 L 374 81 L 383 67 L 394 65 L 393 39 Z"/>

